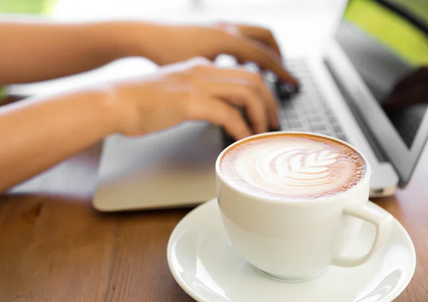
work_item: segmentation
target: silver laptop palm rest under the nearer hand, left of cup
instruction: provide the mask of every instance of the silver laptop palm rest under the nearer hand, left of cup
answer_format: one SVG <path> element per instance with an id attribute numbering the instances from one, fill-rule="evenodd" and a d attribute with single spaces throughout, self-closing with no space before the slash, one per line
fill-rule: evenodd
<path id="1" fill-rule="evenodd" d="M 93 205 L 101 211 L 198 204 L 215 197 L 220 129 L 189 122 L 145 137 L 104 141 Z"/>

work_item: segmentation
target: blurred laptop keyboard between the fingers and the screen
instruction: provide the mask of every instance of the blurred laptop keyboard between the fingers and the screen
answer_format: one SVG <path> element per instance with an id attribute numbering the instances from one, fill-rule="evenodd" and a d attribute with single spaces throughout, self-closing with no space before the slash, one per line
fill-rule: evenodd
<path id="1" fill-rule="evenodd" d="M 287 70 L 299 79 L 300 92 L 280 100 L 281 130 L 316 132 L 347 141 L 335 113 L 305 62 L 289 61 Z"/>

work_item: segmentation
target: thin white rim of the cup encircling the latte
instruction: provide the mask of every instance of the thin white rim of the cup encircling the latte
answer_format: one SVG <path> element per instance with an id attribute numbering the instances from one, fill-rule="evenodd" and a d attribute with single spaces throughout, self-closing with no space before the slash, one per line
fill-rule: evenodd
<path id="1" fill-rule="evenodd" d="M 347 191 L 345 191 L 345 192 L 340 192 L 338 194 L 328 196 L 328 197 L 316 197 L 316 198 L 310 198 L 310 199 L 299 199 L 299 198 L 276 199 L 273 197 L 260 197 L 260 196 L 258 196 L 258 194 L 253 194 L 251 192 L 245 192 L 243 189 L 240 189 L 235 184 L 232 184 L 227 179 L 225 179 L 223 173 L 220 171 L 220 160 L 223 158 L 225 153 L 228 152 L 228 150 L 230 150 L 233 146 L 238 145 L 240 143 L 243 143 L 246 140 L 252 140 L 255 137 L 266 137 L 266 136 L 270 136 L 270 135 L 282 135 L 282 134 L 285 134 L 285 135 L 311 135 L 314 137 L 322 137 L 322 138 L 326 138 L 327 140 L 333 140 L 335 142 L 341 143 L 342 145 L 350 147 L 352 150 L 357 152 L 362 157 L 362 159 L 365 161 L 366 166 L 367 166 L 367 171 L 365 173 L 365 176 L 360 180 L 360 182 L 358 184 L 356 184 L 354 187 L 352 187 L 350 189 L 347 189 Z M 233 142 L 233 144 L 229 145 L 228 147 L 225 147 L 225 149 L 222 152 L 220 152 L 220 155 L 218 155 L 217 160 L 215 160 L 215 174 L 217 175 L 217 177 L 219 177 L 221 179 L 223 184 L 230 187 L 230 189 L 234 189 L 235 191 L 239 192 L 240 194 L 245 195 L 246 197 L 260 198 L 260 199 L 263 199 L 265 202 L 281 203 L 281 204 L 287 203 L 287 204 L 296 204 L 296 205 L 301 204 L 302 205 L 302 204 L 311 204 L 311 203 L 320 203 L 320 202 L 332 202 L 335 199 L 337 199 L 338 197 L 346 197 L 347 195 L 354 192 L 356 189 L 359 189 L 363 184 L 365 184 L 367 181 L 370 180 L 371 172 L 372 172 L 372 167 L 370 166 L 370 162 L 367 160 L 367 157 L 365 157 L 365 155 L 362 154 L 362 152 L 360 152 L 360 150 L 357 150 L 357 148 L 355 148 L 354 146 L 350 145 L 347 142 L 344 142 L 343 140 L 339 140 L 335 137 L 331 137 L 328 135 L 322 135 L 322 134 L 315 133 L 315 132 L 305 132 L 305 131 L 275 131 L 275 132 L 265 132 L 265 133 L 259 133 L 256 135 L 250 135 L 248 137 L 243 138 L 242 140 L 238 140 L 236 142 Z M 300 201 L 302 201 L 302 202 L 300 202 Z"/>

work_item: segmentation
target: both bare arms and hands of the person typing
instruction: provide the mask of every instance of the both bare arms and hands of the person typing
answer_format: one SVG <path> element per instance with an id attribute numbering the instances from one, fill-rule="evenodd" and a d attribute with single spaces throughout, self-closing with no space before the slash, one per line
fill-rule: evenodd
<path id="1" fill-rule="evenodd" d="M 279 127 L 277 103 L 259 73 L 218 68 L 227 53 L 297 85 L 266 28 L 171 26 L 133 21 L 0 20 L 0 86 L 88 71 L 127 56 L 161 66 L 143 78 L 75 88 L 0 108 L 0 192 L 113 133 L 146 135 L 186 120 L 221 125 L 236 140 Z M 245 106 L 250 124 L 237 109 Z"/>

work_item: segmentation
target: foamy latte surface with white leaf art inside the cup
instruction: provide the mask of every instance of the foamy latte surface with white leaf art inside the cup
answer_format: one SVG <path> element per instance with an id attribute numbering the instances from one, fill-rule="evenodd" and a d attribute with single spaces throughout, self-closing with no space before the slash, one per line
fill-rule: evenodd
<path id="1" fill-rule="evenodd" d="M 220 171 L 244 192 L 273 199 L 313 199 L 357 185 L 367 170 L 351 147 L 312 135 L 253 137 L 230 147 Z"/>

